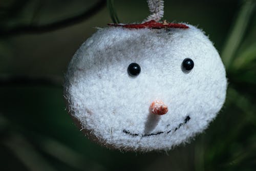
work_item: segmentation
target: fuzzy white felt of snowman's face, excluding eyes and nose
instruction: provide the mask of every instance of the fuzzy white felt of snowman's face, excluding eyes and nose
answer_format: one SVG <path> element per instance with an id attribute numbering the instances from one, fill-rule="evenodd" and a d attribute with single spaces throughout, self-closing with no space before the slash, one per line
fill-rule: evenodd
<path id="1" fill-rule="evenodd" d="M 89 138 L 130 151 L 168 150 L 205 130 L 225 101 L 221 58 L 202 30 L 99 29 L 77 50 L 65 82 L 69 112 Z M 190 58 L 195 66 L 182 70 Z M 127 73 L 136 62 L 141 72 Z M 150 105 L 162 100 L 165 115 Z M 190 118 L 190 119 L 189 119 Z"/>

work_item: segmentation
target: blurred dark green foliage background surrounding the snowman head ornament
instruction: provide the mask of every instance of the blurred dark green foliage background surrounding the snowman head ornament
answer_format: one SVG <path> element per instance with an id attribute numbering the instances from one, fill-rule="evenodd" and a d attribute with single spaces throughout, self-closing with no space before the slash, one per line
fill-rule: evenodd
<path id="1" fill-rule="evenodd" d="M 122 23 L 149 14 L 145 0 L 114 3 Z M 255 4 L 165 1 L 163 19 L 209 35 L 229 88 L 217 119 L 191 143 L 140 154 L 89 141 L 65 110 L 61 85 L 71 57 L 96 27 L 112 23 L 105 1 L 1 0 L 0 170 L 255 170 Z"/>

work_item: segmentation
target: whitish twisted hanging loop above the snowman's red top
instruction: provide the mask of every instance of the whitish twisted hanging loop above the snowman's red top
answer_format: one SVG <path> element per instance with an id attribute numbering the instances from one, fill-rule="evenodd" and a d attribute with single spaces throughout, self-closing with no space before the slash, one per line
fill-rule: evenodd
<path id="1" fill-rule="evenodd" d="M 159 22 L 163 17 L 163 0 L 147 0 L 148 8 L 150 9 L 151 14 L 143 21 L 149 22 L 150 20 L 155 20 Z"/>

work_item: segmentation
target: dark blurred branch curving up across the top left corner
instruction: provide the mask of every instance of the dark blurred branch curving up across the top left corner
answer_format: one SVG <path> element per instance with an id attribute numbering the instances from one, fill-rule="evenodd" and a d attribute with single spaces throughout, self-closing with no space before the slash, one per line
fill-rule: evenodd
<path id="1" fill-rule="evenodd" d="M 105 6 L 105 4 L 106 4 L 105 0 L 100 0 L 89 10 L 84 11 L 77 16 L 72 16 L 70 18 L 59 20 L 57 22 L 49 23 L 46 25 L 26 25 L 26 26 L 18 26 L 8 30 L 0 30 L 0 36 L 13 36 L 13 35 L 25 34 L 25 33 L 30 33 L 30 34 L 45 33 L 49 31 L 61 29 L 64 27 L 68 27 L 88 19 L 89 17 L 91 17 L 92 15 L 100 11 Z"/>

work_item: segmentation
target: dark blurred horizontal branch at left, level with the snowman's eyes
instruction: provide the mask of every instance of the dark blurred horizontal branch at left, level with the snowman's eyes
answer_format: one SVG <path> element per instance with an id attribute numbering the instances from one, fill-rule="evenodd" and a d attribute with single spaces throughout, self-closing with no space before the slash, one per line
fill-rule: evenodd
<path id="1" fill-rule="evenodd" d="M 52 86 L 61 88 L 61 77 L 30 77 L 30 76 L 3 76 L 0 75 L 0 87 L 9 86 Z"/>

